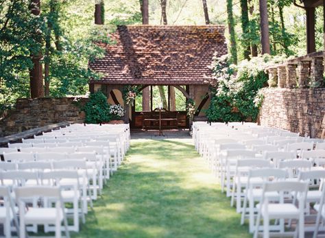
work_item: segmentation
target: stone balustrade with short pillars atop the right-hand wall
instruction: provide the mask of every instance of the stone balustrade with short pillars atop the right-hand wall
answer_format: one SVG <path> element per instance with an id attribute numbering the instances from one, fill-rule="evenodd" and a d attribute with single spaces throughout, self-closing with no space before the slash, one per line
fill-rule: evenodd
<path id="1" fill-rule="evenodd" d="M 324 56 L 325 51 L 320 51 L 268 66 L 265 71 L 269 74 L 269 87 L 324 87 Z"/>

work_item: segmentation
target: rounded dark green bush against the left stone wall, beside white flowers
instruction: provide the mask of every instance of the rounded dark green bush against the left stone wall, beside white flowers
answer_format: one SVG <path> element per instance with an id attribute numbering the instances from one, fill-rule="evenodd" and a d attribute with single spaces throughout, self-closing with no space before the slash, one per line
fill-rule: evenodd
<path id="1" fill-rule="evenodd" d="M 110 115 L 110 105 L 108 105 L 107 98 L 102 92 L 91 94 L 83 110 L 86 113 L 84 120 L 86 123 L 98 124 L 109 122 L 112 118 Z"/>

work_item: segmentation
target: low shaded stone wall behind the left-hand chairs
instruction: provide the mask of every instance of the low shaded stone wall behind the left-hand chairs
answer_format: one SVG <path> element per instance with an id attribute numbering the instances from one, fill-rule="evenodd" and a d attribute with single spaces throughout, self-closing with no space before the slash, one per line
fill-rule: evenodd
<path id="1" fill-rule="evenodd" d="M 84 112 L 74 98 L 17 99 L 16 109 L 0 120 L 0 137 L 58 122 L 84 122 Z M 87 98 L 80 98 L 84 105 Z"/>

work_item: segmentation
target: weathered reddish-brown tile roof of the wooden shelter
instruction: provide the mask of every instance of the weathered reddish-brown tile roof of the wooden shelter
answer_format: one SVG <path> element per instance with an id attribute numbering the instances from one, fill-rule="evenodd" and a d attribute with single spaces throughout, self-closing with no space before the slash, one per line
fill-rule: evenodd
<path id="1" fill-rule="evenodd" d="M 117 44 L 98 43 L 106 56 L 89 67 L 104 77 L 91 83 L 188 85 L 211 75 L 213 55 L 227 53 L 224 27 L 119 26 Z"/>

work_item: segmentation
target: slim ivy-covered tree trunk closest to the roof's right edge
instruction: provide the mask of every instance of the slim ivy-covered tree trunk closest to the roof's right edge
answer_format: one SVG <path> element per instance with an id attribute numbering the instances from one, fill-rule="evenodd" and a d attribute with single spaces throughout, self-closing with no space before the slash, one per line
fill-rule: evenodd
<path id="1" fill-rule="evenodd" d="M 237 64 L 237 43 L 234 32 L 234 16 L 232 14 L 232 0 L 227 0 L 228 30 L 230 35 L 230 62 Z"/>

